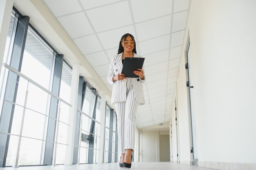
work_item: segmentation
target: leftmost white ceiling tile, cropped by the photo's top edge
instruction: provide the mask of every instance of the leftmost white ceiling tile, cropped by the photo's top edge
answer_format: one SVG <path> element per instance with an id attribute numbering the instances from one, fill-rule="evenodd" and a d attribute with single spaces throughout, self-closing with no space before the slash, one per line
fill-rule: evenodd
<path id="1" fill-rule="evenodd" d="M 82 8 L 80 7 L 80 4 L 78 3 L 77 0 L 65 0 L 65 3 L 63 3 L 63 0 L 44 0 L 44 1 L 56 17 L 59 17 L 61 15 L 66 15 L 69 13 L 82 11 Z"/>

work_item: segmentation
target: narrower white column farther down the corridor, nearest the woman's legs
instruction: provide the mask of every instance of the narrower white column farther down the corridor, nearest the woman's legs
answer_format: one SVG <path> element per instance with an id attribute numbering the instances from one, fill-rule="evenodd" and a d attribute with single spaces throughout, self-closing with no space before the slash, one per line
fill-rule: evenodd
<path id="1" fill-rule="evenodd" d="M 106 119 L 106 94 L 101 94 L 101 126 L 100 126 L 100 142 L 99 142 L 99 155 L 98 163 L 103 163 L 103 148 L 104 148 L 104 133 L 105 133 L 105 119 Z"/>

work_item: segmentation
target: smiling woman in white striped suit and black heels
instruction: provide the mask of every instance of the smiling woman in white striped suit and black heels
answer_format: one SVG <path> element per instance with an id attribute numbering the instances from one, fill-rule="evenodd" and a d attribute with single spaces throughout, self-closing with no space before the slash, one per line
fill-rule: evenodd
<path id="1" fill-rule="evenodd" d="M 144 105 L 144 71 L 133 71 L 139 78 L 127 78 L 121 73 L 125 57 L 140 57 L 136 54 L 134 37 L 127 33 L 121 37 L 118 54 L 112 57 L 107 80 L 113 85 L 111 103 L 117 111 L 118 146 L 120 167 L 130 168 L 135 143 L 136 112 L 138 105 Z"/>

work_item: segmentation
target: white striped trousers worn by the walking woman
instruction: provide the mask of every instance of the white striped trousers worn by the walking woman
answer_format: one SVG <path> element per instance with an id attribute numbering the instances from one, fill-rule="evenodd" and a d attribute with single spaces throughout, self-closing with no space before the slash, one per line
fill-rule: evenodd
<path id="1" fill-rule="evenodd" d="M 128 78 L 129 79 L 129 78 Z M 134 150 L 136 113 L 139 103 L 135 99 L 132 85 L 126 88 L 126 101 L 114 102 L 117 111 L 117 133 L 119 153 L 126 149 Z"/>

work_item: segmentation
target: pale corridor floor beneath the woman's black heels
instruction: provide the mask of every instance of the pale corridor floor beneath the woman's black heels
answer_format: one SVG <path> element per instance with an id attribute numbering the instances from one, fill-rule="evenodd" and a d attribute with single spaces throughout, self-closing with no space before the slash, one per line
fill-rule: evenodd
<path id="1" fill-rule="evenodd" d="M 0 168 L 0 170 L 122 170 L 119 163 L 83 164 L 73 166 L 27 166 L 20 168 Z M 132 170 L 213 170 L 199 166 L 189 166 L 173 162 L 132 162 Z"/>

